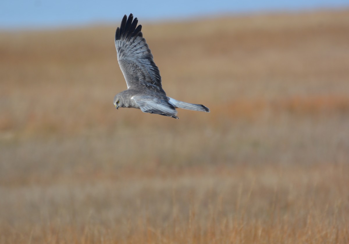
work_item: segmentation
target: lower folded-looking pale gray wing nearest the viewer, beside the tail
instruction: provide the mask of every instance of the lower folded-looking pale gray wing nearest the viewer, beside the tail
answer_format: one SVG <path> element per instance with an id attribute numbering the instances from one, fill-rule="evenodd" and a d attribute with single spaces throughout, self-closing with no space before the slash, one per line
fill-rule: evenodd
<path id="1" fill-rule="evenodd" d="M 145 113 L 156 113 L 178 119 L 177 110 L 168 100 L 147 95 L 133 96 L 132 99 Z"/>

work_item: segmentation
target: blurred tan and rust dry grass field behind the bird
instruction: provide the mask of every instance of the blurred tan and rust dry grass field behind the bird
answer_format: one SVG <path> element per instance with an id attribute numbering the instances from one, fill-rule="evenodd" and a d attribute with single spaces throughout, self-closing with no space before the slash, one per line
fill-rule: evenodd
<path id="1" fill-rule="evenodd" d="M 119 23 L 0 33 L 0 243 L 349 243 L 349 11 L 139 23 L 210 113 L 116 110 Z"/>

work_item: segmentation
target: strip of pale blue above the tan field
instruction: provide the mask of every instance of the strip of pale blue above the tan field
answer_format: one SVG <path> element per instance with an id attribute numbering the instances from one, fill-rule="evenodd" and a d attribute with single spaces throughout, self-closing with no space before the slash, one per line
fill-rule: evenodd
<path id="1" fill-rule="evenodd" d="M 349 7 L 349 0 L 0 0 L 0 29 L 119 23 L 121 17 L 129 13 L 143 21 L 158 21 L 216 14 L 343 7 Z"/>

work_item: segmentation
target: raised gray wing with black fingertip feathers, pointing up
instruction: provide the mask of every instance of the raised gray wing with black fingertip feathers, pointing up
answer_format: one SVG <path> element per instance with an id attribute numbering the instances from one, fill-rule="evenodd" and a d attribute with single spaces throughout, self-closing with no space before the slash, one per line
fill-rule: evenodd
<path id="1" fill-rule="evenodd" d="M 142 25 L 130 14 L 125 15 L 116 29 L 115 47 L 118 61 L 124 74 L 127 88 L 149 89 L 165 96 L 161 86 L 161 76 L 155 65 L 146 40 L 141 32 Z"/>

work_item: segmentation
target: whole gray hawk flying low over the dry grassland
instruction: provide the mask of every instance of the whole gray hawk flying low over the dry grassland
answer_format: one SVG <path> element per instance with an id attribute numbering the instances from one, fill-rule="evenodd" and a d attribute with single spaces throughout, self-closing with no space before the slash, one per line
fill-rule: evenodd
<path id="1" fill-rule="evenodd" d="M 118 62 L 124 74 L 127 90 L 114 97 L 118 109 L 136 108 L 145 113 L 156 113 L 178 119 L 176 108 L 209 112 L 201 104 L 177 101 L 166 96 L 161 86 L 161 76 L 155 65 L 146 40 L 141 32 L 142 25 L 130 14 L 125 15 L 115 33 Z"/>

